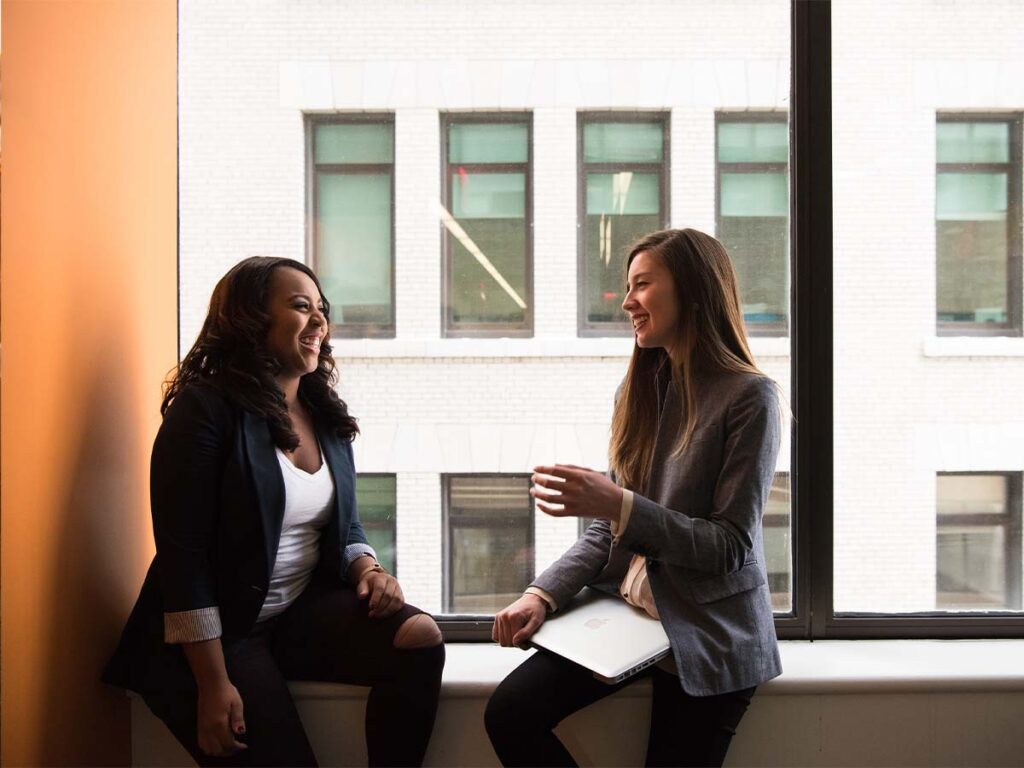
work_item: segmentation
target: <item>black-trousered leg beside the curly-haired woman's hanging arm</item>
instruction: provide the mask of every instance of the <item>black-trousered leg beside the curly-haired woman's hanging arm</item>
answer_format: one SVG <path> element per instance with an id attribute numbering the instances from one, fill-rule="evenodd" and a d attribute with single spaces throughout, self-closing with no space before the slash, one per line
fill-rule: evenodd
<path id="1" fill-rule="evenodd" d="M 197 741 L 195 690 L 145 696 L 145 702 L 201 766 L 315 766 L 295 702 L 270 653 L 269 626 L 224 647 L 227 677 L 239 689 L 248 749 L 230 758 L 204 755 Z"/>

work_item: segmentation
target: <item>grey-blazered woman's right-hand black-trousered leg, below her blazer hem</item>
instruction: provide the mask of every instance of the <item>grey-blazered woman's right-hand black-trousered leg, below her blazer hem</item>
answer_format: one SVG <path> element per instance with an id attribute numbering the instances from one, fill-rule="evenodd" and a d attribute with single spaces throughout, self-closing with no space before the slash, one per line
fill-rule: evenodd
<path id="1" fill-rule="evenodd" d="M 691 696 L 676 675 L 653 673 L 648 766 L 721 766 L 757 688 Z"/>

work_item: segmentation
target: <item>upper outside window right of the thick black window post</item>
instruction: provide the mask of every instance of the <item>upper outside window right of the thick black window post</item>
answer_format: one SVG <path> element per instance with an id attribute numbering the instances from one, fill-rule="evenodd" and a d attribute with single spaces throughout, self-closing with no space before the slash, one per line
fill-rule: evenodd
<path id="1" fill-rule="evenodd" d="M 936 312 L 944 330 L 1010 322 L 1011 174 L 1020 183 L 1010 145 L 1008 121 L 947 117 L 936 125 Z"/>

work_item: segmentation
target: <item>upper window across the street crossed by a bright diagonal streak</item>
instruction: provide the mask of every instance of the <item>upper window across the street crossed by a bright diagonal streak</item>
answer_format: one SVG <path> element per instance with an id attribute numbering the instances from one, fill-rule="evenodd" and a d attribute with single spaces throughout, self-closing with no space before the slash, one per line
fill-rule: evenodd
<path id="1" fill-rule="evenodd" d="M 528 330 L 528 126 L 454 122 L 447 130 L 446 330 Z"/>

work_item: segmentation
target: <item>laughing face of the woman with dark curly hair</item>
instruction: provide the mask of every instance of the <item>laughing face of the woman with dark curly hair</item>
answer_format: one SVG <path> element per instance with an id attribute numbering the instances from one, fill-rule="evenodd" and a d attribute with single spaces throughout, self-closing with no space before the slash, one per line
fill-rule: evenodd
<path id="1" fill-rule="evenodd" d="M 316 370 L 321 343 L 328 334 L 324 299 L 316 284 L 298 269 L 274 269 L 266 313 L 270 317 L 266 350 L 281 364 L 276 378 L 283 385 L 297 383 Z"/>

